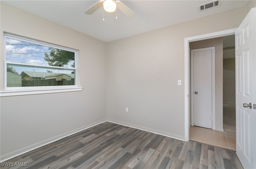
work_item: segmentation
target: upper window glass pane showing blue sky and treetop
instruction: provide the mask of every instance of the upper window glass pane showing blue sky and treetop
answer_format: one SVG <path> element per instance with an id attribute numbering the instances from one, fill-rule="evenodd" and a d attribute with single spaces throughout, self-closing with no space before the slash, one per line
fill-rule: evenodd
<path id="1" fill-rule="evenodd" d="M 75 67 L 75 53 L 6 37 L 6 60 L 32 65 Z"/>

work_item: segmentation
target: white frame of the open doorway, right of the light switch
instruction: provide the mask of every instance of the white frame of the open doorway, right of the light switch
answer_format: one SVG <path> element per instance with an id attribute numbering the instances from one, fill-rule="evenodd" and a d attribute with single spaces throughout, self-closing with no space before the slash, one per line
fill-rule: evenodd
<path id="1" fill-rule="evenodd" d="M 212 39 L 216 37 L 223 37 L 228 35 L 234 35 L 235 29 L 228 29 L 224 31 L 218 31 L 213 33 L 208 33 L 204 35 L 186 37 L 184 39 L 184 140 L 189 141 L 189 127 L 190 127 L 190 48 L 189 43 L 193 41 L 200 41 L 205 39 Z"/>

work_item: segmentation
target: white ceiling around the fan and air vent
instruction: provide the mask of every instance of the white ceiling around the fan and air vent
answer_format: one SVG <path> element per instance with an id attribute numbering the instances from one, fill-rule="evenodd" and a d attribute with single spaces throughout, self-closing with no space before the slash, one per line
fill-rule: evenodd
<path id="1" fill-rule="evenodd" d="M 218 7 L 200 12 L 198 5 L 211 0 L 121 0 L 136 13 L 127 18 L 122 12 L 84 14 L 97 0 L 1 0 L 62 26 L 80 31 L 102 41 L 114 41 L 154 29 L 194 20 L 246 6 L 248 0 L 220 0 Z"/>

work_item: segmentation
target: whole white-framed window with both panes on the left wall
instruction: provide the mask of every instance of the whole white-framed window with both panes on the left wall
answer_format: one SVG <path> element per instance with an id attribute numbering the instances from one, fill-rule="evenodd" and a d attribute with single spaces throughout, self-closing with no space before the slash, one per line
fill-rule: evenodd
<path id="1" fill-rule="evenodd" d="M 4 91 L 78 88 L 77 51 L 4 35 Z M 69 91 L 69 90 L 67 90 Z M 16 95 L 16 94 L 14 94 Z"/>

